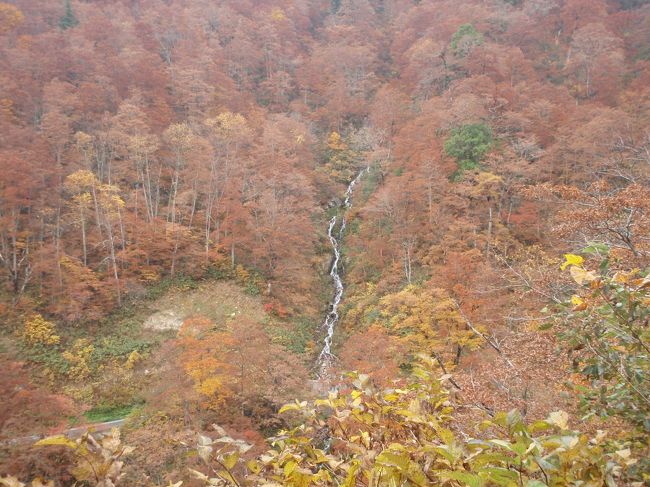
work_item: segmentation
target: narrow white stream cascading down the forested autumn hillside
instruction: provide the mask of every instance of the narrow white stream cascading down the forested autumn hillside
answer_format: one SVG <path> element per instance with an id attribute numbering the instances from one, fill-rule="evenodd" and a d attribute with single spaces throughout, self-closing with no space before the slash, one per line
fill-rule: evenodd
<path id="1" fill-rule="evenodd" d="M 330 307 L 330 311 L 327 313 L 327 316 L 325 316 L 325 320 L 323 321 L 322 327 L 326 331 L 325 335 L 325 340 L 323 342 L 323 348 L 321 349 L 320 354 L 318 355 L 318 369 L 319 369 L 319 377 L 325 378 L 327 377 L 327 372 L 329 368 L 332 366 L 334 363 L 335 357 L 332 354 L 332 339 L 334 337 L 334 329 L 336 328 L 336 324 L 339 321 L 339 313 L 338 313 L 338 308 L 339 304 L 341 303 L 341 298 L 343 297 L 343 280 L 341 279 L 341 275 L 339 273 L 339 263 L 341 261 L 341 243 L 343 240 L 343 233 L 345 232 L 345 213 L 348 209 L 352 207 L 352 192 L 354 191 L 355 185 L 359 182 L 361 177 L 364 175 L 364 173 L 368 172 L 370 170 L 370 167 L 367 167 L 365 169 L 362 169 L 359 174 L 357 174 L 357 177 L 355 177 L 350 184 L 348 185 L 348 189 L 345 191 L 345 199 L 343 200 L 343 204 L 341 205 L 342 212 L 341 212 L 341 225 L 339 227 L 338 232 L 336 232 L 336 222 L 337 222 L 337 216 L 334 215 L 332 219 L 329 222 L 329 227 L 327 228 L 327 236 L 330 239 L 330 243 L 332 245 L 332 267 L 330 268 L 330 276 L 332 278 L 332 281 L 334 283 L 334 297 L 332 299 L 332 305 Z"/>

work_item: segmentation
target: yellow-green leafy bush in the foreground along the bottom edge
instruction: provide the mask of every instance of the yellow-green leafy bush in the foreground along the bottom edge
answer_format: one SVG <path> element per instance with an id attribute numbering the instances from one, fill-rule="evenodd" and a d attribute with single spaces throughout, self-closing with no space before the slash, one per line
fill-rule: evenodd
<path id="1" fill-rule="evenodd" d="M 210 472 L 194 476 L 240 486 L 613 486 L 636 463 L 605 434 L 570 429 L 562 411 L 531 424 L 517 411 L 496 414 L 480 425 L 486 439 L 454 431 L 446 377 L 428 357 L 404 388 L 375 391 L 367 376 L 351 377 L 345 392 L 285 406 L 304 420 L 255 460 L 244 464 L 248 446 L 228 436 L 201 437 Z"/>

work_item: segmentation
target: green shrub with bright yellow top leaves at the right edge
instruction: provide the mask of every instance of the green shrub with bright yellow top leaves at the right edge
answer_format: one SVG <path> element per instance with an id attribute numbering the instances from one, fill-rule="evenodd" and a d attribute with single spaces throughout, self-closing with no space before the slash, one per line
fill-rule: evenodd
<path id="1" fill-rule="evenodd" d="M 585 255 L 606 247 L 583 249 Z M 590 269 L 580 255 L 562 265 L 578 285 L 558 310 L 556 325 L 576 372 L 588 385 L 577 386 L 587 416 L 620 417 L 642 435 L 650 433 L 650 274 L 613 271 L 609 258 Z"/>

